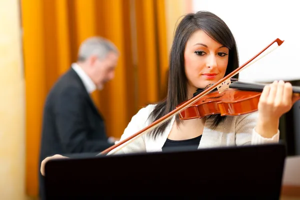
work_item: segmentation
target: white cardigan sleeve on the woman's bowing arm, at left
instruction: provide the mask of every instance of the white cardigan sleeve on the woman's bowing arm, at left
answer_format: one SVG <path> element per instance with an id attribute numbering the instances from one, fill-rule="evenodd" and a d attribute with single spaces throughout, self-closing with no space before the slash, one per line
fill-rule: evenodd
<path id="1" fill-rule="evenodd" d="M 150 112 L 153 110 L 154 105 L 148 105 L 141 108 L 130 120 L 127 127 L 124 129 L 124 132 L 119 141 L 126 139 L 127 137 L 135 134 L 142 128 L 148 125 L 147 119 Z M 111 150 L 108 154 L 121 154 L 121 153 L 131 153 L 131 152 L 145 152 L 145 135 L 141 133 L 141 136 L 138 135 L 133 139 L 121 144 L 115 149 Z"/>

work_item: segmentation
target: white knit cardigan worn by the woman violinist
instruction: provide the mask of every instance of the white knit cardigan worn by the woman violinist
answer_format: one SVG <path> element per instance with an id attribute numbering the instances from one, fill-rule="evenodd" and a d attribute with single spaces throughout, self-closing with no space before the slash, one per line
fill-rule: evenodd
<path id="1" fill-rule="evenodd" d="M 151 124 L 151 121 L 148 120 L 148 116 L 154 107 L 154 104 L 150 104 L 141 108 L 131 118 L 131 121 L 125 128 L 120 141 Z M 272 138 L 264 138 L 254 130 L 257 114 L 258 113 L 256 111 L 239 116 L 227 116 L 215 129 L 209 128 L 213 119 L 206 119 L 198 148 L 278 142 L 279 130 Z M 163 133 L 156 137 L 155 140 L 153 137 L 149 136 L 148 133 L 141 133 L 141 136 L 131 139 L 131 142 L 128 141 L 121 144 L 111 150 L 108 154 L 131 153 L 138 151 L 162 151 L 161 148 L 172 128 L 174 119 L 175 116 L 172 117 L 171 122 L 165 128 Z"/>

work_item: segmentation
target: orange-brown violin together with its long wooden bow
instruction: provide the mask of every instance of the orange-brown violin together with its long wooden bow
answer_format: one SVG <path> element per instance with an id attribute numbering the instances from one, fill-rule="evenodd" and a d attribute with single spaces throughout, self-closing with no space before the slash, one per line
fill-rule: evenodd
<path id="1" fill-rule="evenodd" d="M 125 142 L 127 142 L 125 144 L 127 145 L 128 143 L 136 139 L 137 136 L 141 136 L 153 130 L 157 126 L 171 119 L 176 114 L 179 114 L 179 118 L 181 119 L 190 119 L 190 118 L 199 118 L 211 114 L 239 115 L 239 114 L 245 114 L 245 113 L 256 111 L 258 106 L 259 96 L 263 88 L 261 87 L 262 85 L 260 85 L 260 88 L 256 85 L 255 88 L 257 90 L 253 91 L 252 89 L 250 89 L 253 88 L 253 85 L 249 85 L 247 83 L 242 83 L 242 82 L 231 83 L 230 78 L 233 77 L 235 74 L 239 73 L 241 69 L 245 68 L 245 66 L 249 66 L 250 65 L 249 63 L 253 59 L 255 59 L 258 55 L 260 55 L 273 43 L 277 43 L 276 47 L 278 47 L 283 42 L 284 40 L 280 40 L 279 38 L 276 38 L 265 48 L 263 48 L 260 52 L 258 52 L 256 55 L 254 55 L 244 64 L 242 64 L 241 66 L 233 70 L 228 75 L 221 78 L 216 83 L 211 84 L 210 86 L 208 86 L 203 91 L 198 93 L 196 96 L 190 98 L 189 100 L 180 103 L 175 107 L 175 109 L 165 114 L 161 118 L 153 121 L 150 125 L 142 128 L 135 134 L 132 134 L 131 136 L 103 150 L 100 154 L 106 154 L 109 151 L 113 150 L 114 148 L 124 144 Z M 263 56 L 261 56 L 260 58 L 262 57 Z M 218 91 L 213 91 L 215 88 L 217 88 Z M 298 95 L 300 89 L 296 87 L 293 87 L 293 89 L 296 92 L 294 98 L 300 99 Z"/>

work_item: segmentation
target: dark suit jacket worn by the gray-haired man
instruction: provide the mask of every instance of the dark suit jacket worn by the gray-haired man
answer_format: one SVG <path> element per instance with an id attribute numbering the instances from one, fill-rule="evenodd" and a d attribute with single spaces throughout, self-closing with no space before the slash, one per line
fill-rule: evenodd
<path id="1" fill-rule="evenodd" d="M 70 68 L 57 80 L 45 101 L 39 165 L 50 155 L 96 154 L 111 145 L 107 142 L 101 114 L 80 77 Z M 40 172 L 39 175 L 43 181 Z"/>

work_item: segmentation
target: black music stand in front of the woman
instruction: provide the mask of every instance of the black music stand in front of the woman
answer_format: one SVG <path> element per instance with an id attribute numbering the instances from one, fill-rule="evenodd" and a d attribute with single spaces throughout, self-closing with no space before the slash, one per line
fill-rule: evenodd
<path id="1" fill-rule="evenodd" d="M 47 199 L 279 199 L 281 143 L 53 159 Z"/>

